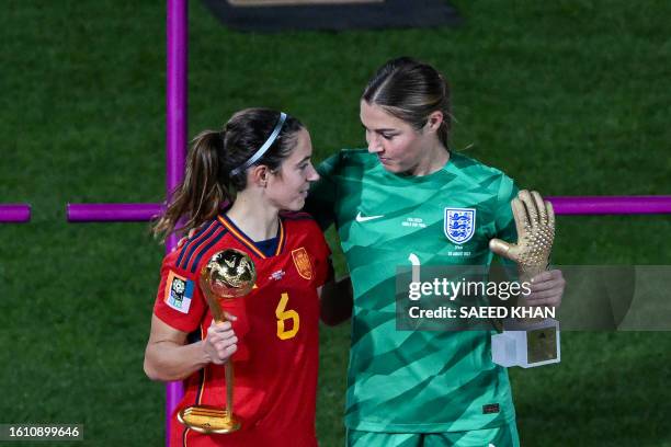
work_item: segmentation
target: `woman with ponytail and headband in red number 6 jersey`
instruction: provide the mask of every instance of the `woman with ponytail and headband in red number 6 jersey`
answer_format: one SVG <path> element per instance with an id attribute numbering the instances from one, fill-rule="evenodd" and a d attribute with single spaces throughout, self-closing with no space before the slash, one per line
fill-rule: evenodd
<path id="1" fill-rule="evenodd" d="M 315 400 L 320 296 L 333 294 L 330 251 L 317 224 L 297 213 L 311 182 L 312 147 L 294 117 L 235 114 L 193 140 L 186 175 L 155 231 L 191 236 L 166 256 L 145 354 L 153 380 L 186 380 L 171 446 L 317 446 Z M 228 204 L 228 205 L 226 205 Z M 254 289 L 215 324 L 197 276 L 224 249 L 246 252 Z M 238 432 L 203 435 L 177 422 L 190 405 L 226 404 L 224 364 L 235 365 Z"/>

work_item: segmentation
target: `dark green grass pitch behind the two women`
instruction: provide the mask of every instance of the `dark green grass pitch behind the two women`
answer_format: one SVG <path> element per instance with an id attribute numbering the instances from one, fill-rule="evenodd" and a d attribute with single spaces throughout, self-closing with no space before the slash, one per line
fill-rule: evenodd
<path id="1" fill-rule="evenodd" d="M 361 147 L 367 78 L 410 55 L 452 84 L 453 148 L 520 185 L 671 193 L 671 2 L 454 3 L 457 28 L 259 35 L 192 0 L 189 135 L 263 105 L 307 124 L 317 160 Z M 0 423 L 84 424 L 76 445 L 162 445 L 163 387 L 141 367 L 162 248 L 146 224 L 67 224 L 65 204 L 162 200 L 164 4 L 1 7 L 0 200 L 31 203 L 33 218 L 0 226 Z M 554 261 L 670 264 L 670 233 L 668 215 L 560 217 Z M 348 331 L 321 332 L 326 447 L 343 445 Z M 562 342 L 559 366 L 511 370 L 524 446 L 671 446 L 669 333 Z"/>

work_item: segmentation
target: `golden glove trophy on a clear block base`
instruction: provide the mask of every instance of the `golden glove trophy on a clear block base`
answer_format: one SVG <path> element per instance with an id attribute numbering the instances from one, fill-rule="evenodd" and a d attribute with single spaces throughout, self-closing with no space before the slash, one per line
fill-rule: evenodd
<path id="1" fill-rule="evenodd" d="M 518 243 L 500 239 L 489 241 L 489 249 L 518 264 L 520 282 L 530 282 L 547 268 L 555 239 L 553 205 L 537 192 L 521 191 L 511 203 Z M 524 306 L 521 297 L 518 306 Z M 507 320 L 503 332 L 491 339 L 492 360 L 497 365 L 531 368 L 559 363 L 559 322 L 554 319 Z"/>

